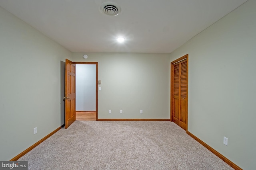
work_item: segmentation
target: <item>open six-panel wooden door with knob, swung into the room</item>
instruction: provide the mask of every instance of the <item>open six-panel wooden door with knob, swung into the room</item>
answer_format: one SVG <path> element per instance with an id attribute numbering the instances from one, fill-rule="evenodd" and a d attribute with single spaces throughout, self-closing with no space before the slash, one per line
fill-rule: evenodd
<path id="1" fill-rule="evenodd" d="M 76 64 L 66 59 L 65 128 L 76 120 Z"/>

